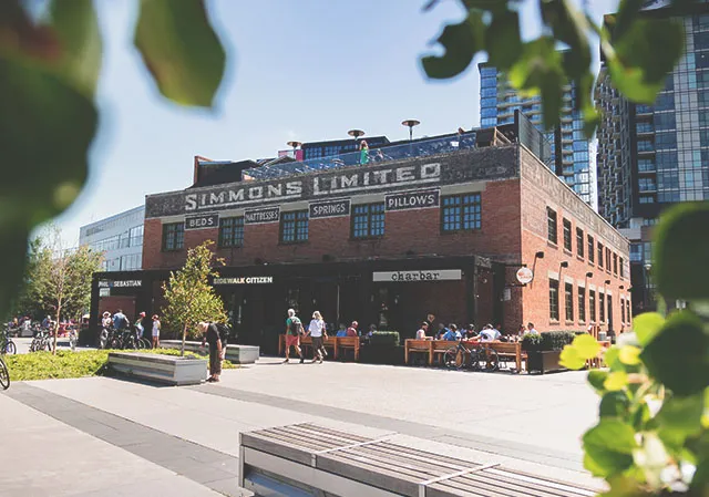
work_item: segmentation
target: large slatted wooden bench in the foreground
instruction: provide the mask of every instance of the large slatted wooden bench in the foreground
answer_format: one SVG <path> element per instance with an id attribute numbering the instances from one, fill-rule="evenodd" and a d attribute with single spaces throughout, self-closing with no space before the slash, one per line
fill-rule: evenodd
<path id="1" fill-rule="evenodd" d="M 257 495 L 594 497 L 595 489 L 304 423 L 239 434 L 238 486 Z"/>

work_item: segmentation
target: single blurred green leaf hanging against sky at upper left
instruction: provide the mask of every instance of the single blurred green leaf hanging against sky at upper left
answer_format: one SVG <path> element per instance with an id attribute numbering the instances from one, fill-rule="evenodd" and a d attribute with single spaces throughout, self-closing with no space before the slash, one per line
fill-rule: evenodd
<path id="1" fill-rule="evenodd" d="M 164 96 L 213 105 L 226 54 L 202 0 L 141 0 L 134 42 Z"/>

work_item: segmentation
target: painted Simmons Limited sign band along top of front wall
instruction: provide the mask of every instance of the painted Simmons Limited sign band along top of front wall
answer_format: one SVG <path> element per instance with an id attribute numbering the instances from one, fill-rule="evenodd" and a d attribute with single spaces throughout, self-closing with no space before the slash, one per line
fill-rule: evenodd
<path id="1" fill-rule="evenodd" d="M 461 152 L 440 162 L 419 157 L 367 167 L 323 169 L 285 179 L 239 182 L 150 195 L 145 200 L 145 217 L 214 213 L 294 200 L 317 203 L 356 194 L 513 178 L 518 176 L 515 151 L 514 147 L 481 148 Z"/>

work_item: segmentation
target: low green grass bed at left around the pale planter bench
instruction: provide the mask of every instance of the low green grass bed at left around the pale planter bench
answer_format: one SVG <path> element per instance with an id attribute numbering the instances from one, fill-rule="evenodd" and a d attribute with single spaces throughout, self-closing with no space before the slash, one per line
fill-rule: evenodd
<path id="1" fill-rule="evenodd" d="M 86 350 L 72 352 L 68 350 L 56 351 L 56 355 L 50 352 L 32 352 L 28 354 L 4 355 L 4 362 L 10 371 L 10 380 L 13 382 L 29 380 L 51 380 L 68 377 L 101 376 L 106 373 L 109 361 L 107 350 Z M 125 351 L 114 351 L 125 352 Z M 142 353 L 162 355 L 179 355 L 178 350 L 157 349 L 142 350 Z M 201 358 L 193 352 L 185 352 L 185 358 Z M 222 369 L 233 370 L 237 365 L 229 361 L 222 363 Z"/>

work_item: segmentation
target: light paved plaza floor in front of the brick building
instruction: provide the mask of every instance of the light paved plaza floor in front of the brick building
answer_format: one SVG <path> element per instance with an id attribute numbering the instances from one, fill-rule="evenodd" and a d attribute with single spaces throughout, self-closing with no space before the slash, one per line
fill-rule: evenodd
<path id="1" fill-rule="evenodd" d="M 579 437 L 596 418 L 585 373 L 544 376 L 351 363 L 258 364 L 219 384 L 120 377 L 13 383 L 0 395 L 2 496 L 248 495 L 238 433 L 315 422 L 597 487 Z"/>

